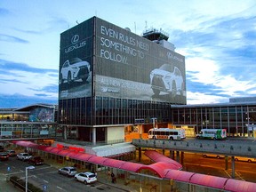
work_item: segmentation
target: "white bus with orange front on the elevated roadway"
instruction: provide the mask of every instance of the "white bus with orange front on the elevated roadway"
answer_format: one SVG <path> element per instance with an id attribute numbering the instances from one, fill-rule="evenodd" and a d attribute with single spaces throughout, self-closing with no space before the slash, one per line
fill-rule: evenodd
<path id="1" fill-rule="evenodd" d="M 153 128 L 148 131 L 148 139 L 183 140 L 186 138 L 184 129 Z"/>

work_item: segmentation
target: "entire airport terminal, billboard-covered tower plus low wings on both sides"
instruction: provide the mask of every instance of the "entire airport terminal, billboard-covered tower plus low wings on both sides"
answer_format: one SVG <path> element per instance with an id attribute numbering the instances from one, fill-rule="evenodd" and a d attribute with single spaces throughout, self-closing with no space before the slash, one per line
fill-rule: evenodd
<path id="1" fill-rule="evenodd" d="M 97 17 L 68 29 L 60 35 L 58 105 L 0 108 L 1 138 L 116 143 L 153 126 L 256 138 L 256 97 L 187 105 L 185 57 L 167 40 L 161 30 L 138 36 Z"/>

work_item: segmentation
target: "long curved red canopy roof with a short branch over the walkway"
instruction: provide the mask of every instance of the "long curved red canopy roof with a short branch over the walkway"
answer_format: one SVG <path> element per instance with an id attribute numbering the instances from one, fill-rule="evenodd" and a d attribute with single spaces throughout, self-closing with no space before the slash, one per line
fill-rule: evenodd
<path id="1" fill-rule="evenodd" d="M 150 170 L 155 172 L 155 174 L 166 180 L 176 180 L 180 182 L 188 182 L 191 184 L 205 186 L 208 188 L 219 188 L 227 191 L 234 192 L 252 192 L 256 191 L 256 183 L 247 182 L 244 180 L 233 180 L 228 178 L 221 178 L 212 175 L 204 175 L 195 172 L 184 172 L 180 171 L 182 165 L 174 160 L 157 153 L 154 150 L 148 150 L 145 152 L 145 155 L 155 161 L 155 164 L 137 164 L 132 162 L 126 162 L 116 159 L 110 159 L 103 156 L 94 156 L 91 154 L 86 154 L 76 150 L 62 149 L 62 148 L 53 148 L 40 146 L 31 141 L 25 140 L 14 140 L 12 141 L 16 145 L 20 145 L 26 148 L 36 148 L 43 150 L 47 153 L 52 153 L 58 156 L 69 156 L 70 158 L 85 161 L 92 164 L 100 164 L 104 166 L 109 166 L 117 169 L 122 169 L 128 172 L 140 172 L 141 170 Z"/>

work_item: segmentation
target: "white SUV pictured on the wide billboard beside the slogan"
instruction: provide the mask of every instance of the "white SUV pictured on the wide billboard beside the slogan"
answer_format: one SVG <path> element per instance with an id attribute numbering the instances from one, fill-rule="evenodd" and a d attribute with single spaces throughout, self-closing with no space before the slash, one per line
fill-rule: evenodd
<path id="1" fill-rule="evenodd" d="M 150 73 L 150 84 L 155 95 L 160 92 L 170 92 L 172 96 L 184 95 L 184 80 L 180 69 L 170 64 L 155 68 Z"/>

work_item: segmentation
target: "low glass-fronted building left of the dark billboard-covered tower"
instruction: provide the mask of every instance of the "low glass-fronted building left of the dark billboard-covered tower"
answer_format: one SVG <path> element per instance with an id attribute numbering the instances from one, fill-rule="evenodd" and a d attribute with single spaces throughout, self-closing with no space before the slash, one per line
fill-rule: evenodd
<path id="1" fill-rule="evenodd" d="M 55 138 L 55 105 L 35 104 L 24 108 L 0 109 L 0 139 Z"/>

